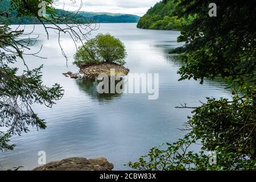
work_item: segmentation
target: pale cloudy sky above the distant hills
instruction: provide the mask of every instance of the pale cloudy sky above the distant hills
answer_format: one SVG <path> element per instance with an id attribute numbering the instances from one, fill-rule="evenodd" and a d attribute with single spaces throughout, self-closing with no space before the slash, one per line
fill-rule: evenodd
<path id="1" fill-rule="evenodd" d="M 82 11 L 124 13 L 142 16 L 160 0 L 59 0 L 56 8 L 62 9 L 65 2 L 65 10 L 74 11 L 80 7 Z"/>

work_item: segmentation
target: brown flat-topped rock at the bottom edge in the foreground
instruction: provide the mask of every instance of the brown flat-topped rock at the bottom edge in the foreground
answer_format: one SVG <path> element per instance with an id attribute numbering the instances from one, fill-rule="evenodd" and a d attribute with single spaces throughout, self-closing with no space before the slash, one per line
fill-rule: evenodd
<path id="1" fill-rule="evenodd" d="M 114 165 L 105 158 L 68 158 L 47 163 L 33 171 L 111 171 L 113 168 Z"/>

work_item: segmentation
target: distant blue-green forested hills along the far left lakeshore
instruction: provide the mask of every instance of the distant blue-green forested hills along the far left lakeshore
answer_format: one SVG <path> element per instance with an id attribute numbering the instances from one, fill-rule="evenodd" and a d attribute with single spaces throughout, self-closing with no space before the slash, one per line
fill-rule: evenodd
<path id="1" fill-rule="evenodd" d="M 10 11 L 10 0 L 3 0 L 0 2 L 0 12 Z M 20 17 L 15 18 L 17 13 L 10 12 L 8 23 L 10 24 L 40 24 L 39 20 L 35 17 Z M 74 18 L 77 23 L 88 23 L 93 19 L 97 23 L 137 23 L 139 16 L 130 14 L 114 14 L 114 13 L 94 13 L 94 12 L 79 12 L 75 17 L 69 11 L 56 9 L 54 12 L 58 16 L 67 15 L 67 18 Z M 6 23 L 6 18 L 0 16 L 0 24 Z M 69 22 L 66 22 L 69 23 Z M 72 23 L 72 22 L 70 22 Z"/>

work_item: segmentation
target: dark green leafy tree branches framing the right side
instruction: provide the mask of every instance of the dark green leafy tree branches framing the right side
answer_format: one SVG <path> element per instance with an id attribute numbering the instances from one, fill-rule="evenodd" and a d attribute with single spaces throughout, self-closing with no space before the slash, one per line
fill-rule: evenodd
<path id="1" fill-rule="evenodd" d="M 187 134 L 167 147 L 153 147 L 129 166 L 140 170 L 256 170 L 256 27 L 255 1 L 180 1 L 180 17 L 195 15 L 184 26 L 179 42 L 184 65 L 180 80 L 221 77 L 231 83 L 232 98 L 207 98 L 193 109 Z M 199 152 L 192 147 L 200 144 Z M 199 145 L 197 145 L 199 146 Z"/>

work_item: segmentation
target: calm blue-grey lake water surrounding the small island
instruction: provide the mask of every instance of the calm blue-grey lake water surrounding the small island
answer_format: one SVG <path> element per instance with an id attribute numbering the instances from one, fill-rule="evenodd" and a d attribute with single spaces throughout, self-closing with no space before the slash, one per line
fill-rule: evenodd
<path id="1" fill-rule="evenodd" d="M 26 26 L 26 31 L 33 26 Z M 43 81 L 46 85 L 59 83 L 65 93 L 52 109 L 35 105 L 34 110 L 46 119 L 47 129 L 31 129 L 27 134 L 15 136 L 14 151 L 0 154 L 0 164 L 6 169 L 38 166 L 38 152 L 45 151 L 47 162 L 73 156 L 97 158 L 104 156 L 114 164 L 115 170 L 130 169 L 123 166 L 144 155 L 152 146 L 175 142 L 184 133 L 182 128 L 191 110 L 175 109 L 182 103 L 199 105 L 205 97 L 229 97 L 225 84 L 206 81 L 177 81 L 180 61 L 168 54 L 171 48 L 180 46 L 176 42 L 177 31 L 141 30 L 135 23 L 101 24 L 98 32 L 114 35 L 122 40 L 127 49 L 126 67 L 131 73 L 159 73 L 159 99 L 148 100 L 147 94 L 121 94 L 101 96 L 95 85 L 88 81 L 64 77 L 67 71 L 78 72 L 72 65 L 76 49 L 68 36 L 61 37 L 61 44 L 69 57 L 68 67 L 61 55 L 57 35 L 50 32 L 49 40 L 40 25 L 35 26 L 39 35 L 32 51 L 43 44 L 39 55 L 47 59 L 26 56 L 30 68 L 44 64 Z M 22 63 L 18 63 L 22 67 Z"/>

